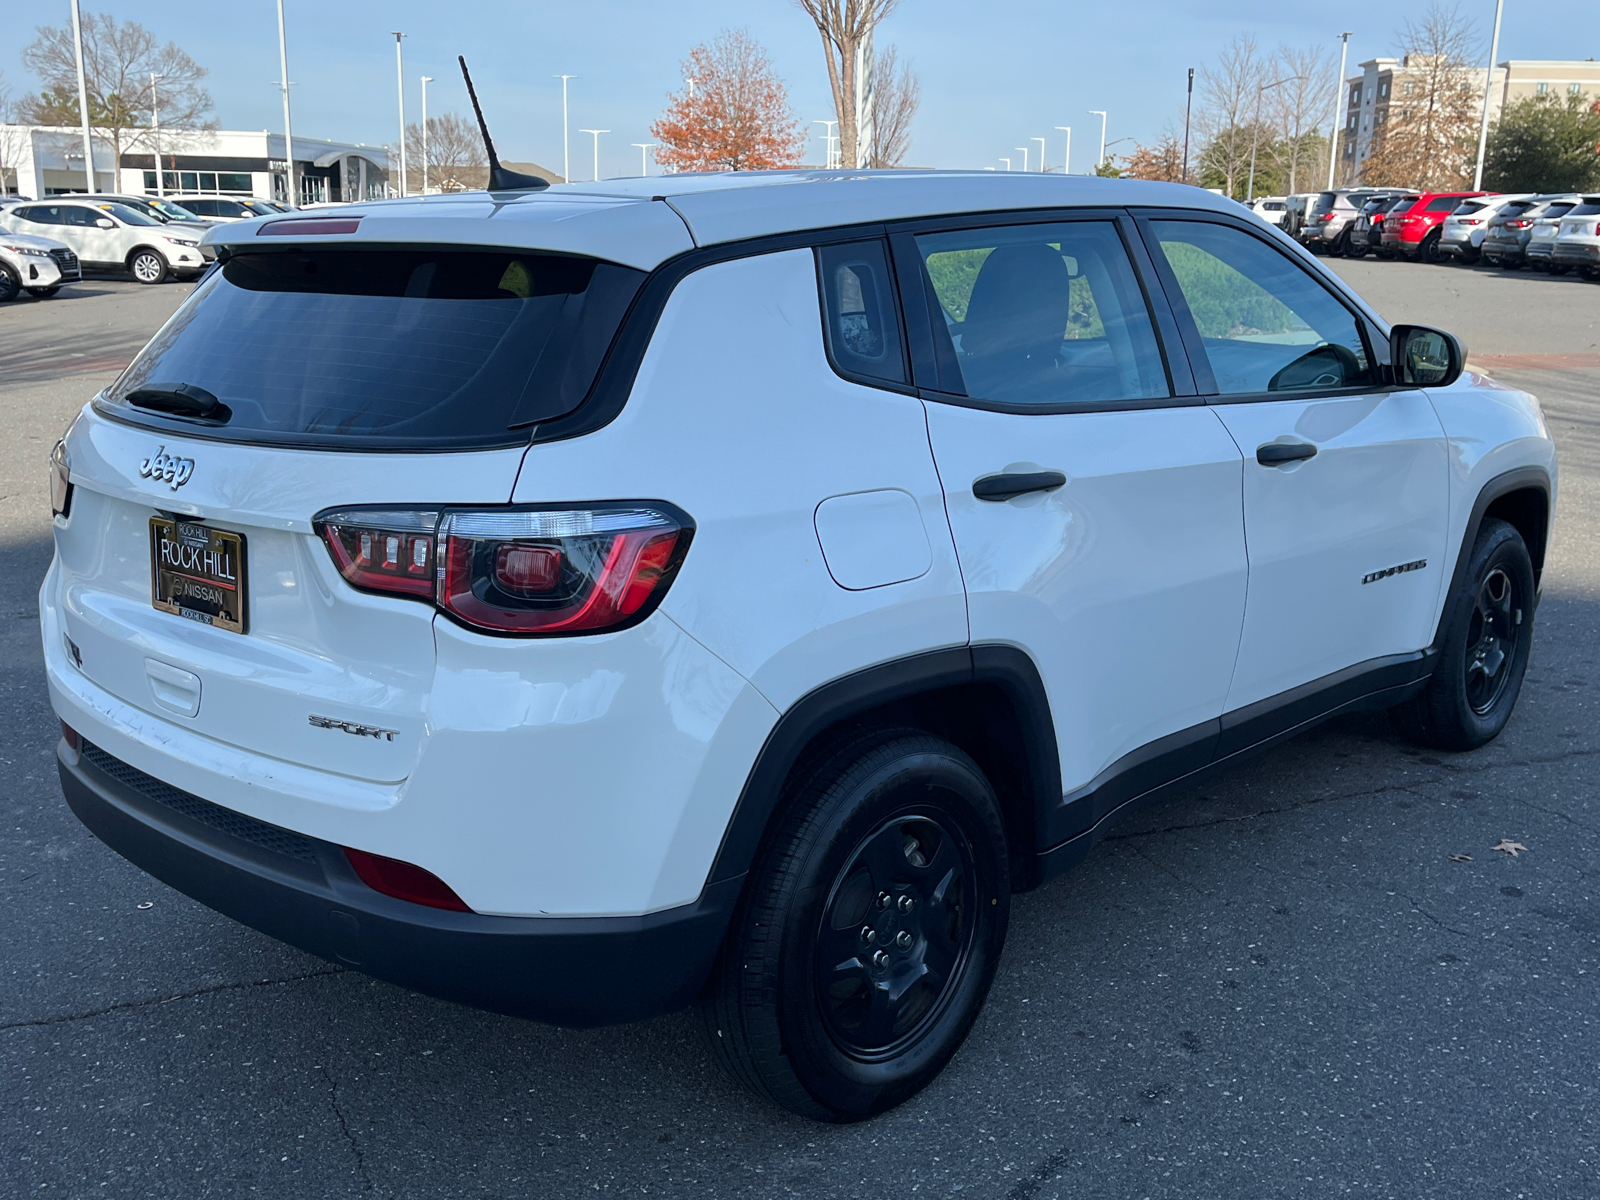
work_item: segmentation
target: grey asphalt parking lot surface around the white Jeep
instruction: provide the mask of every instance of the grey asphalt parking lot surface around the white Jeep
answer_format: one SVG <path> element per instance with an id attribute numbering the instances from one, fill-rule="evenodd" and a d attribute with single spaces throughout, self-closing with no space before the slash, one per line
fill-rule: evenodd
<path id="1" fill-rule="evenodd" d="M 1600 286 L 1334 267 L 1544 402 L 1562 494 L 1510 726 L 1432 755 L 1342 718 L 1142 814 L 1018 898 L 949 1070 L 846 1128 L 746 1096 L 686 1013 L 570 1032 L 411 995 L 80 827 L 45 459 L 189 286 L 0 306 L 0 1194 L 1594 1197 Z"/>

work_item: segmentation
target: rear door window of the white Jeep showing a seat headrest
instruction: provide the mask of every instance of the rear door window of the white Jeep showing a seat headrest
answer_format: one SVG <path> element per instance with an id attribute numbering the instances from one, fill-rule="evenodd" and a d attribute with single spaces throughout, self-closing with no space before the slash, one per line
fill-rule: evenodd
<path id="1" fill-rule="evenodd" d="M 1155 326 L 1110 221 L 917 237 L 939 357 L 966 395 L 1013 405 L 1171 395 Z"/>

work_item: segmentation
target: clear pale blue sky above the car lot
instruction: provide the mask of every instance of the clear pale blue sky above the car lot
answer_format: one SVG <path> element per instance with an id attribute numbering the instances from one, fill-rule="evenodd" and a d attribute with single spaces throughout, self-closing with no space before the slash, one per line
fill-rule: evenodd
<path id="1" fill-rule="evenodd" d="M 282 130 L 275 0 L 82 0 L 85 11 L 138 21 L 176 42 L 211 75 L 214 115 L 226 130 Z M 1498 59 L 1600 56 L 1594 5 L 1509 3 Z M 1478 13 L 1477 10 L 1482 10 Z M 1107 110 L 1110 154 L 1182 128 L 1187 67 L 1203 66 L 1240 32 L 1262 46 L 1338 46 L 1352 29 L 1349 70 L 1395 53 L 1397 26 L 1421 3 L 1294 5 L 1282 0 L 901 0 L 877 43 L 899 46 L 922 82 L 907 165 L 1038 168 L 1045 138 L 1061 163 L 1070 125 L 1074 171 L 1093 163 Z M 1485 56 L 1494 6 L 1477 0 Z M 395 48 L 406 34 L 405 104 L 414 122 L 421 75 L 432 75 L 429 112 L 470 115 L 456 54 L 472 67 L 496 149 L 506 160 L 562 170 L 562 85 L 570 88 L 571 176 L 594 171 L 590 134 L 600 136 L 600 176 L 638 174 L 650 123 L 682 90 L 680 62 L 722 29 L 746 29 L 770 53 L 795 115 L 814 134 L 832 118 L 827 69 L 814 27 L 794 0 L 285 0 L 294 131 L 310 138 L 394 142 Z M 69 0 L 0 2 L 0 74 L 13 93 L 38 88 L 21 51 L 34 26 L 69 24 Z M 1330 80 L 1331 82 L 1331 80 Z M 1331 94 L 1330 94 L 1331 104 Z M 1118 141 L 1133 139 L 1133 141 Z M 822 162 L 811 141 L 806 162 Z M 654 173 L 654 168 L 651 168 Z"/>

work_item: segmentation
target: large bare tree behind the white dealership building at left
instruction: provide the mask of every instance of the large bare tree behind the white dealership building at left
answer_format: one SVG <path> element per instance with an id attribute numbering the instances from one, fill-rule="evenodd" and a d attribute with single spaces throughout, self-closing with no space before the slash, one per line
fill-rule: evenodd
<path id="1" fill-rule="evenodd" d="M 22 50 L 22 64 L 45 90 L 22 107 L 35 125 L 78 125 L 78 67 L 72 26 L 38 26 L 38 37 Z M 160 75 L 150 88 L 150 72 Z M 110 133 L 117 168 L 125 150 L 144 141 L 152 101 L 158 94 L 163 130 L 214 128 L 208 122 L 211 93 L 200 82 L 206 69 L 173 42 L 165 46 L 136 21 L 107 13 L 83 14 L 83 75 L 88 83 L 90 125 Z"/>

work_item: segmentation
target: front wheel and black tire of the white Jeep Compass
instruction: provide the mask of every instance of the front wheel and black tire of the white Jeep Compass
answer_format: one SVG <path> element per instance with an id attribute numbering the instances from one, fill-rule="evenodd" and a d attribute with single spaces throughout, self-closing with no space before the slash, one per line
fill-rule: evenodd
<path id="1" fill-rule="evenodd" d="M 1510 720 L 1533 646 L 1533 560 L 1515 528 L 1483 522 L 1446 621 L 1427 688 L 1390 715 L 1419 746 L 1475 750 Z"/>

